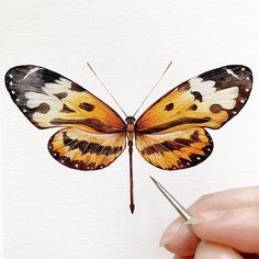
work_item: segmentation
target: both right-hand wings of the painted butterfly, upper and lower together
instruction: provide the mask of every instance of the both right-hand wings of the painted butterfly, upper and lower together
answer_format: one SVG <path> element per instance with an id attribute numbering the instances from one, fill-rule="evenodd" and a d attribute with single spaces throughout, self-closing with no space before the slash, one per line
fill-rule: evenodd
<path id="1" fill-rule="evenodd" d="M 195 166 L 212 153 L 203 127 L 219 128 L 247 102 L 252 76 L 245 66 L 217 68 L 181 83 L 149 106 L 136 122 L 136 146 L 166 170 Z"/>

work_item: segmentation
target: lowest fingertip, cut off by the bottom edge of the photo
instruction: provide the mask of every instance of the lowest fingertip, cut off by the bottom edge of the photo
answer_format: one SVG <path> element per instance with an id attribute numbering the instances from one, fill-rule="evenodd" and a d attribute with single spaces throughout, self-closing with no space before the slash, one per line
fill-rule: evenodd
<path id="1" fill-rule="evenodd" d="M 237 254 L 233 248 L 207 243 L 201 241 L 196 248 L 194 259 L 241 259 L 243 257 Z"/>

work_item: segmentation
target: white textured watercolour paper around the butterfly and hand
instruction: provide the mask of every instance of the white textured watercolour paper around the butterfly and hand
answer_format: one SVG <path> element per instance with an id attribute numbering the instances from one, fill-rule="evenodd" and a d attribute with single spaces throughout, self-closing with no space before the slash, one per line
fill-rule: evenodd
<path id="1" fill-rule="evenodd" d="M 177 213 L 149 174 L 185 205 L 204 193 L 258 184 L 258 13 L 256 0 L 1 1 L 4 259 L 171 258 L 158 243 Z M 31 125 L 3 83 L 10 67 L 41 65 L 117 110 L 86 66 L 90 61 L 133 114 L 170 60 L 173 69 L 145 108 L 177 83 L 228 64 L 252 69 L 254 90 L 237 117 L 210 131 L 215 148 L 200 166 L 166 172 L 134 150 L 134 215 L 127 151 L 98 172 L 63 167 L 46 148 L 55 130 Z"/>

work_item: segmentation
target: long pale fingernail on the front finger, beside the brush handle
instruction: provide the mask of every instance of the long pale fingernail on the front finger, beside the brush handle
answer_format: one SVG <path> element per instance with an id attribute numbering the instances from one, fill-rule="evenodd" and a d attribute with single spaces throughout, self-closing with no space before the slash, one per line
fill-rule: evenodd
<path id="1" fill-rule="evenodd" d="M 204 222 L 210 222 L 217 219 L 225 215 L 227 211 L 205 211 L 205 212 L 200 212 L 196 214 L 194 217 L 190 218 L 184 224 L 187 225 L 195 225 L 195 224 L 201 224 Z"/>

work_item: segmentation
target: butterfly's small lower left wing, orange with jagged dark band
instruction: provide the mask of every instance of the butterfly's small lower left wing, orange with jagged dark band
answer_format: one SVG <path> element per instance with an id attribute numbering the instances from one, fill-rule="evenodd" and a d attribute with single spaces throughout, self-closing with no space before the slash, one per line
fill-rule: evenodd
<path id="1" fill-rule="evenodd" d="M 78 170 L 108 167 L 125 146 L 125 133 L 92 134 L 83 127 L 60 130 L 48 142 L 48 150 L 57 161 Z"/>

